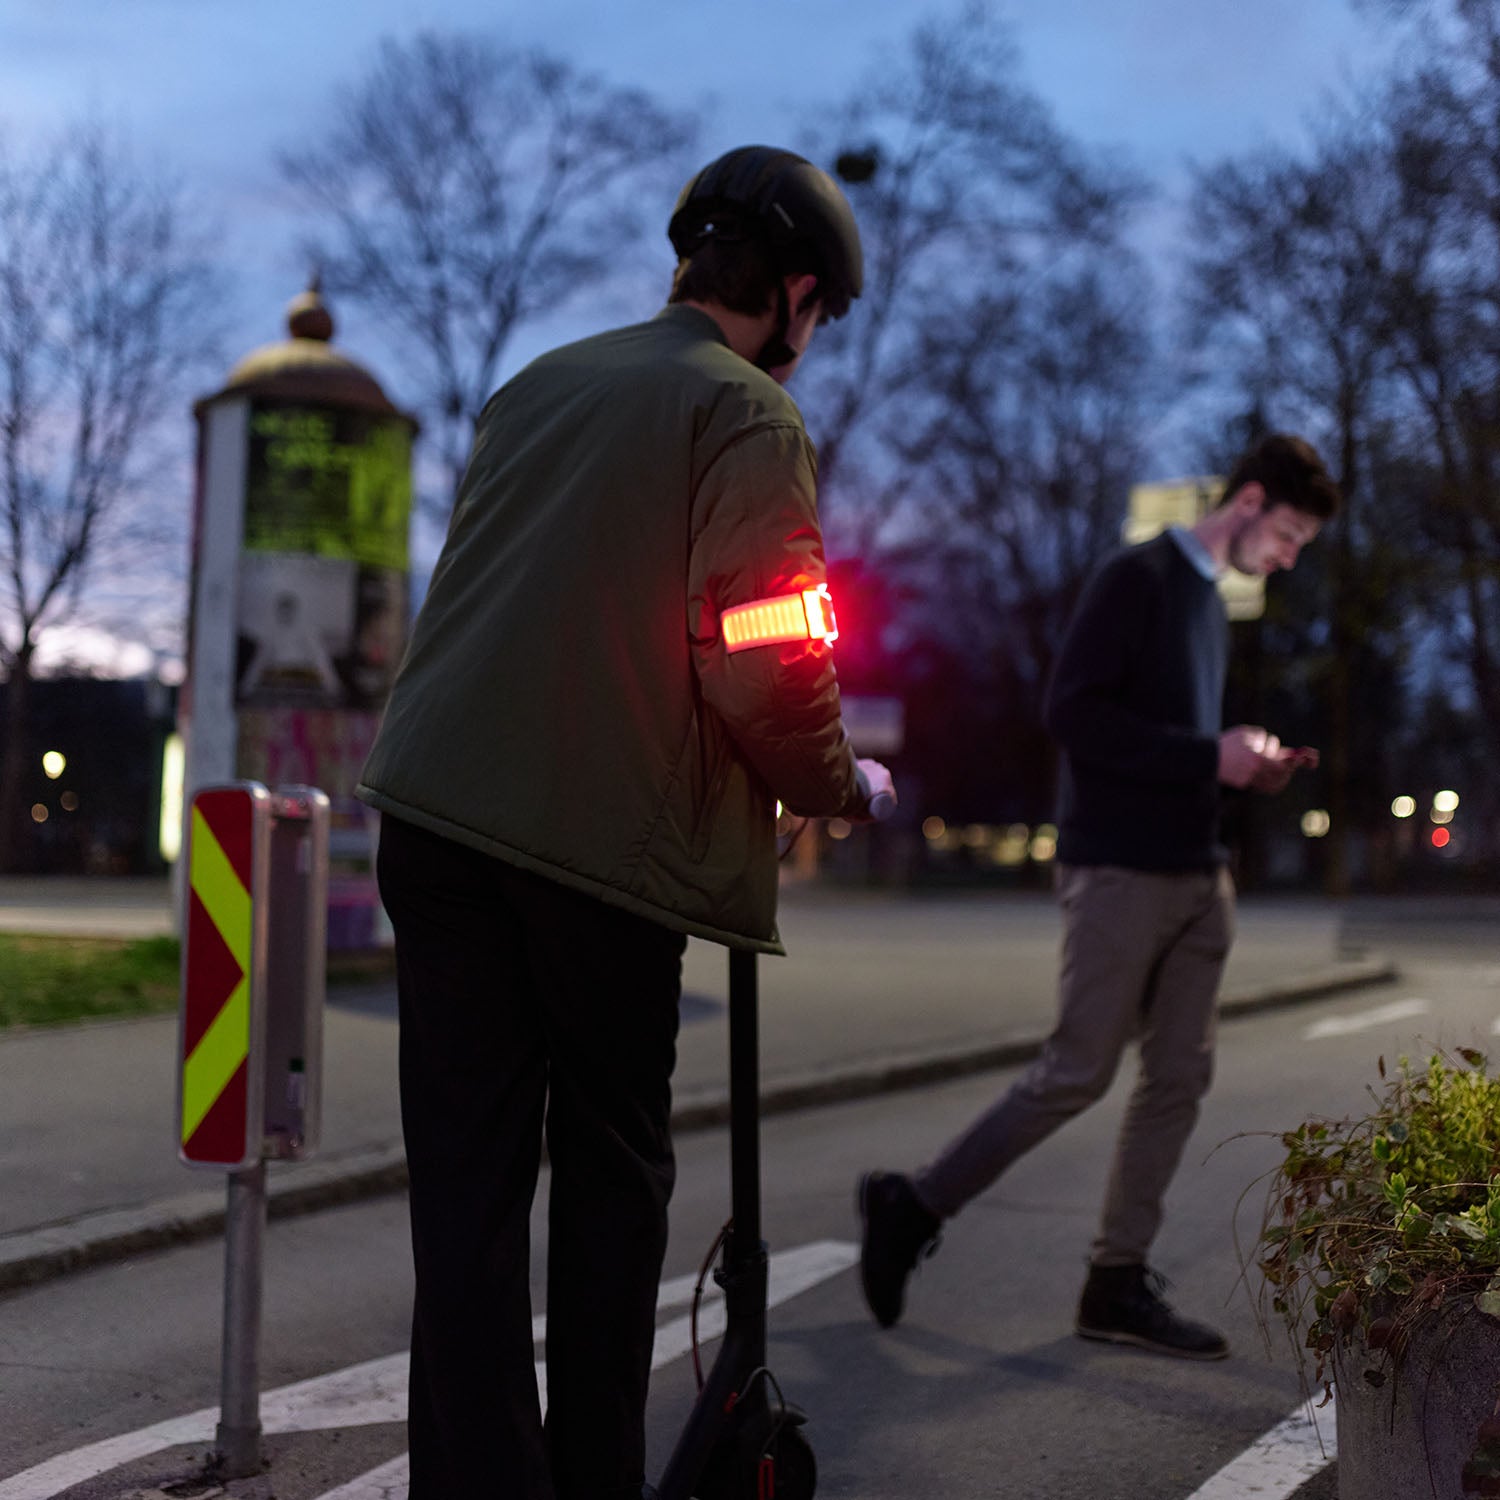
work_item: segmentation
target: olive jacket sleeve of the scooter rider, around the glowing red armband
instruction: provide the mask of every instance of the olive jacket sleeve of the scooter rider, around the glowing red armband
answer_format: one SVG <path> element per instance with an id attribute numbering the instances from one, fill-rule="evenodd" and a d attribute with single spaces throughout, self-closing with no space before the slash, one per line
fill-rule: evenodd
<path id="1" fill-rule="evenodd" d="M 789 812 L 866 812 L 830 646 L 730 654 L 720 628 L 735 604 L 824 582 L 813 452 L 800 424 L 756 428 L 712 460 L 694 496 L 690 548 L 688 633 L 704 702 Z"/>

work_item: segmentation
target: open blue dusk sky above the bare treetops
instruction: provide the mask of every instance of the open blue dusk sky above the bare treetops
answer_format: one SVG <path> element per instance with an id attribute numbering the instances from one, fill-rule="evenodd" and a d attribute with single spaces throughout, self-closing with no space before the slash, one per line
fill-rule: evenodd
<path id="1" fill-rule="evenodd" d="M 952 9 L 914 0 L 0 0 L 0 140 L 24 147 L 93 117 L 174 171 L 220 231 L 228 366 L 282 336 L 282 309 L 306 279 L 296 252 L 306 225 L 274 153 L 321 134 L 330 92 L 360 74 L 382 36 L 484 30 L 542 46 L 696 108 L 706 160 L 752 140 L 795 146 L 822 105 L 844 100 L 921 20 Z M 1162 189 L 1142 231 L 1156 255 L 1180 231 L 1173 194 L 1190 159 L 1296 146 L 1320 104 L 1376 75 L 1402 36 L 1378 4 L 1350 0 L 1000 0 L 994 9 L 1011 26 L 1022 80 L 1059 124 L 1084 146 L 1119 152 Z M 664 237 L 662 250 L 664 285 Z M 354 309 L 334 314 L 338 342 L 369 358 L 402 399 L 375 332 Z M 504 374 L 542 338 L 518 340 Z M 183 422 L 188 436 L 186 411 Z"/>

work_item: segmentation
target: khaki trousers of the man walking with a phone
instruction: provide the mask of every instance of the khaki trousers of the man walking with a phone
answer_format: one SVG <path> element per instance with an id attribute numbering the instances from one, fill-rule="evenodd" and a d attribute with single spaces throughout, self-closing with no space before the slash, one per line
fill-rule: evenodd
<path id="1" fill-rule="evenodd" d="M 1220 976 L 1234 936 L 1227 870 L 1058 872 L 1064 939 L 1058 1026 L 1041 1054 L 914 1185 L 942 1218 L 1101 1098 L 1132 1038 L 1140 1076 L 1125 1108 L 1092 1262 L 1137 1264 L 1214 1076 Z"/>

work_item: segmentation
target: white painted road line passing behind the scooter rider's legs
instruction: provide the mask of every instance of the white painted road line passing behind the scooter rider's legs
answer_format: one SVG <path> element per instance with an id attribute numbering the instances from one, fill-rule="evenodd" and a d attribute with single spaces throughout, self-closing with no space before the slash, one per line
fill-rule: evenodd
<path id="1" fill-rule="evenodd" d="M 771 1257 L 770 1288 L 766 1302 L 777 1306 L 812 1290 L 822 1281 L 848 1270 L 860 1258 L 860 1246 L 846 1240 L 814 1240 L 795 1250 L 778 1251 Z M 663 1281 L 657 1296 L 658 1310 L 684 1306 L 692 1300 L 696 1276 L 675 1276 Z M 708 1342 L 724 1330 L 723 1293 L 710 1281 L 698 1314 L 699 1342 Z M 532 1320 L 537 1340 L 546 1335 L 546 1318 Z M 657 1329 L 651 1352 L 651 1368 L 670 1364 L 692 1348 L 688 1316 L 676 1317 Z M 411 1356 L 408 1352 L 370 1359 L 327 1376 L 298 1380 L 296 1384 L 267 1390 L 261 1396 L 261 1430 L 270 1437 L 278 1432 L 314 1432 L 327 1428 L 375 1426 L 384 1422 L 406 1420 L 406 1372 Z M 542 1382 L 543 1365 L 537 1362 L 538 1383 L 546 1401 L 546 1386 Z M 164 1448 L 178 1443 L 213 1443 L 219 1425 L 219 1408 L 204 1407 L 186 1416 L 170 1418 L 135 1432 L 108 1437 L 70 1454 L 58 1454 L 24 1473 L 0 1479 L 0 1500 L 50 1500 L 51 1496 L 87 1479 L 118 1468 L 138 1458 L 148 1458 Z M 399 1485 L 405 1486 L 405 1455 L 382 1464 L 381 1468 L 360 1476 L 340 1490 L 333 1491 L 340 1500 L 382 1500 L 396 1492 L 394 1466 L 400 1467 Z M 387 1473 L 390 1472 L 390 1473 Z M 380 1478 L 376 1478 L 380 1476 Z M 364 1488 L 358 1488 L 358 1486 Z M 327 1500 L 327 1497 L 326 1497 Z"/>

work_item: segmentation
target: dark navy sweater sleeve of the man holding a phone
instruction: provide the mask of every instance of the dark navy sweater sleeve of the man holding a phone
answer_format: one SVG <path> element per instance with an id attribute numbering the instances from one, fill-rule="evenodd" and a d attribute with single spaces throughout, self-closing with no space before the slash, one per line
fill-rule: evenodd
<path id="1" fill-rule="evenodd" d="M 1098 765 L 1136 782 L 1200 780 L 1218 768 L 1218 740 L 1164 724 L 1131 704 L 1140 670 L 1140 633 L 1152 600 L 1130 555 L 1089 579 L 1064 636 L 1047 688 L 1047 732 L 1080 765 Z"/>

